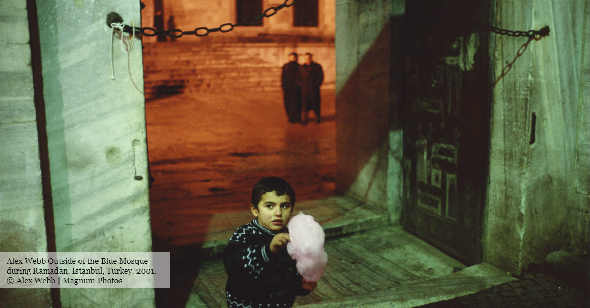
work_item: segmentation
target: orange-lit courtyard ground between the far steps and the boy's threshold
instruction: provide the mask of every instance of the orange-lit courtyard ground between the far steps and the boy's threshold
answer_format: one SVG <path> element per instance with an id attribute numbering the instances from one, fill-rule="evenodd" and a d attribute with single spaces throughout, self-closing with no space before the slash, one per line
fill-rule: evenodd
<path id="1" fill-rule="evenodd" d="M 280 91 L 182 93 L 146 101 L 155 244 L 229 238 L 252 219 L 251 189 L 281 176 L 297 202 L 334 194 L 333 90 L 322 122 L 287 122 Z"/>

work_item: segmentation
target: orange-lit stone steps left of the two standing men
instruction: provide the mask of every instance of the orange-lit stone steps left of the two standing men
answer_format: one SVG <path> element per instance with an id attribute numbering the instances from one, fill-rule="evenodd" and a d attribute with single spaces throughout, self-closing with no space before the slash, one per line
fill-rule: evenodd
<path id="1" fill-rule="evenodd" d="M 183 92 L 280 89 L 281 67 L 244 50 L 255 42 L 155 42 L 143 48 L 146 99 Z"/>

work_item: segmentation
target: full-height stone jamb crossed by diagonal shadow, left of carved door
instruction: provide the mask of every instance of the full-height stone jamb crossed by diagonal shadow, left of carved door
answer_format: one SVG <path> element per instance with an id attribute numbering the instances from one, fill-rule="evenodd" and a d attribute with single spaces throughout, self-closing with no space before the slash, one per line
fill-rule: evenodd
<path id="1" fill-rule="evenodd" d="M 336 189 L 394 222 L 402 206 L 402 132 L 392 24 L 403 11 L 403 1 L 336 1 Z"/>

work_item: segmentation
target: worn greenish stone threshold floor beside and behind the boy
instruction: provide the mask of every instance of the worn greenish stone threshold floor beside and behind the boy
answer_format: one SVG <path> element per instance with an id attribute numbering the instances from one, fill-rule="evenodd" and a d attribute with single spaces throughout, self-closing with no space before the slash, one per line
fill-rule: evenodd
<path id="1" fill-rule="evenodd" d="M 401 226 L 330 237 L 324 247 L 326 273 L 316 290 L 297 297 L 296 307 L 411 308 L 516 280 L 487 263 L 467 267 Z M 192 281 L 183 307 L 225 307 L 221 258 L 203 261 Z"/>

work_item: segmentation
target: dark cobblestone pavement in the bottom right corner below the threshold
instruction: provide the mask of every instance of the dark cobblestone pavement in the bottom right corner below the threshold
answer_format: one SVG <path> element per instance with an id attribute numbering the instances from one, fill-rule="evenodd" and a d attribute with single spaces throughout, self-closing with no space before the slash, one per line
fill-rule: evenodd
<path id="1" fill-rule="evenodd" d="M 575 286 L 545 273 L 526 273 L 519 280 L 456 297 L 444 302 L 432 303 L 421 308 L 496 308 L 539 307 L 578 308 L 590 307 L 588 286 Z"/>

